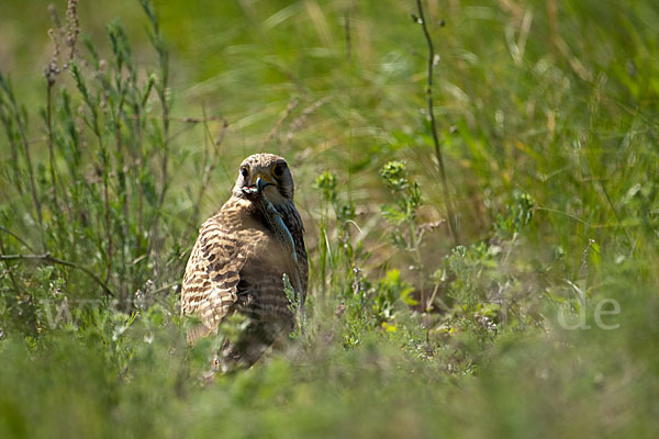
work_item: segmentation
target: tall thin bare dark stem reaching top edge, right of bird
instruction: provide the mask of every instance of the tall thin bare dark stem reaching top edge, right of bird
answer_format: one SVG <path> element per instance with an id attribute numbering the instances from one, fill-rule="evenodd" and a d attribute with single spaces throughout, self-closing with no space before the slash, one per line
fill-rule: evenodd
<path id="1" fill-rule="evenodd" d="M 433 104 L 433 68 L 435 67 L 435 47 L 433 45 L 433 38 L 428 32 L 428 27 L 426 26 L 426 20 L 423 14 L 423 7 L 421 4 L 421 0 L 416 0 L 416 7 L 418 9 L 418 20 L 417 22 L 421 24 L 423 29 L 423 34 L 425 36 L 427 46 L 428 46 L 428 68 L 427 68 L 427 78 L 426 78 L 426 104 L 428 111 L 428 117 L 431 122 L 431 131 L 433 133 L 433 144 L 435 145 L 435 156 L 437 156 L 437 166 L 439 168 L 439 177 L 442 178 L 442 188 L 444 190 L 444 198 L 446 200 L 446 211 L 448 216 L 448 230 L 450 233 L 450 237 L 453 239 L 454 245 L 459 243 L 458 230 L 456 227 L 456 216 L 455 211 L 453 209 L 453 202 L 450 199 L 450 192 L 448 190 L 448 180 L 446 178 L 446 169 L 444 167 L 444 157 L 442 155 L 442 147 L 439 145 L 439 136 L 437 134 L 437 126 L 435 124 L 435 110 Z"/>

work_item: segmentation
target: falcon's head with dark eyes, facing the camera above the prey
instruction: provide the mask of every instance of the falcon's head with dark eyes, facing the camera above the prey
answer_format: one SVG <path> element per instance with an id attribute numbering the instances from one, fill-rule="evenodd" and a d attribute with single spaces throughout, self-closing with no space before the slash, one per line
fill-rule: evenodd
<path id="1" fill-rule="evenodd" d="M 282 157 L 273 154 L 255 154 L 241 164 L 233 194 L 259 192 L 275 206 L 293 201 L 293 176 Z"/>

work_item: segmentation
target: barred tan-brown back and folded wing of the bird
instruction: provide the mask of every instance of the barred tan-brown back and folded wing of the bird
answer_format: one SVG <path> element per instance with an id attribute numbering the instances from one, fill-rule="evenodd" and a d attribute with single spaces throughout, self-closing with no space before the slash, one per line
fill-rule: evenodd
<path id="1" fill-rule="evenodd" d="M 188 331 L 194 341 L 216 331 L 234 305 L 261 319 L 290 317 L 283 293 L 286 257 L 246 204 L 230 200 L 202 224 L 183 275 L 181 312 L 201 325 Z"/>

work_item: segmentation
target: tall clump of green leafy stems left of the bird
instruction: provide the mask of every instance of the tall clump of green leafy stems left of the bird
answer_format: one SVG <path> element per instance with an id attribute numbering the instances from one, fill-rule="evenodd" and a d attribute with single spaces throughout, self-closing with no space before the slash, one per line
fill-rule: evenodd
<path id="1" fill-rule="evenodd" d="M 2 252 L 51 264 L 36 271 L 8 266 L 14 293 L 7 297 L 31 300 L 7 303 L 4 327 L 21 325 L 33 335 L 47 330 L 41 302 L 67 307 L 74 305 L 65 300 L 102 299 L 131 313 L 137 292 L 153 300 L 153 291 L 145 290 L 174 278 L 166 267 L 180 258 L 180 243 L 170 237 L 186 227 L 164 210 L 172 156 L 167 52 L 150 5 L 142 4 L 160 66 L 146 80 L 138 80 L 142 72 L 118 21 L 107 27 L 109 59 L 88 37 L 82 38 L 85 48 L 78 47 L 76 1 L 68 3 L 66 23 L 51 33 L 54 55 L 41 109 L 46 166 L 41 160 L 34 165 L 27 113 L 9 79 L 0 76 L 0 114 L 12 151 L 1 212 L 2 227 L 11 233 L 2 237 Z M 155 111 L 159 117 L 153 116 Z"/>

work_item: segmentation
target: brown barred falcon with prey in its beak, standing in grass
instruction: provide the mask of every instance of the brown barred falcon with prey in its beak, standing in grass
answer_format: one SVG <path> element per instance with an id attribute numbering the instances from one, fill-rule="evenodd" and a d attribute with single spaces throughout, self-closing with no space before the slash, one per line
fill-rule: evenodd
<path id="1" fill-rule="evenodd" d="M 238 339 L 221 349 L 225 364 L 254 364 L 293 328 L 284 277 L 303 309 L 309 262 L 293 194 L 287 161 L 254 154 L 241 164 L 228 201 L 199 228 L 183 274 L 181 315 L 199 320 L 188 328 L 190 344 L 217 334 L 227 316 L 246 317 Z"/>

